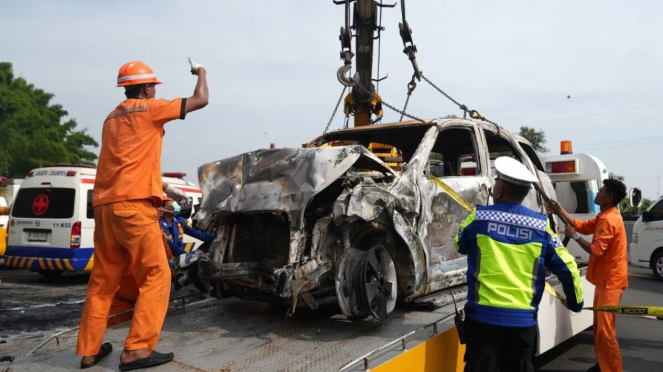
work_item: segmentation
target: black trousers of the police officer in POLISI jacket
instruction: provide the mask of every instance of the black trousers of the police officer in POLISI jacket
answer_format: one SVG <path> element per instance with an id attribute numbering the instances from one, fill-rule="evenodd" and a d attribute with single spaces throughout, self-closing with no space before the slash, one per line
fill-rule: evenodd
<path id="1" fill-rule="evenodd" d="M 536 326 L 498 327 L 465 318 L 465 372 L 534 372 Z"/>

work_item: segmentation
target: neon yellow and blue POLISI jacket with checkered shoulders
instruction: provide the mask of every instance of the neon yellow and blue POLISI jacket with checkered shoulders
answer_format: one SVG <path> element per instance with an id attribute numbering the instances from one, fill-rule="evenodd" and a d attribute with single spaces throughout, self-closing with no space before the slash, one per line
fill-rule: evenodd
<path id="1" fill-rule="evenodd" d="M 546 267 L 560 278 L 569 308 L 582 308 L 582 287 L 573 257 L 547 218 L 520 204 L 478 206 L 461 226 L 456 249 L 468 255 L 467 316 L 512 327 L 537 324 Z"/>

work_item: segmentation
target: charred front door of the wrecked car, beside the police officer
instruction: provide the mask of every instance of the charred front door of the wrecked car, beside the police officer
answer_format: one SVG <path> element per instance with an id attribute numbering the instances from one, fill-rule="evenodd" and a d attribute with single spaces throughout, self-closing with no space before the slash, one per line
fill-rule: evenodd
<path id="1" fill-rule="evenodd" d="M 467 260 L 456 252 L 453 240 L 471 212 L 468 208 L 490 201 L 493 180 L 486 170 L 484 148 L 475 123 L 440 123 L 440 133 L 429 155 L 430 166 L 419 183 L 419 235 L 427 254 L 427 292 L 465 281 Z"/>

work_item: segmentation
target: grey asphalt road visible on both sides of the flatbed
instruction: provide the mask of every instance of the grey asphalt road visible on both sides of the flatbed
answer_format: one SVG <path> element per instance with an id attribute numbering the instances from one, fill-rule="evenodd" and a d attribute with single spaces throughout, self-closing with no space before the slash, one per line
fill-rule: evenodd
<path id="1" fill-rule="evenodd" d="M 651 270 L 630 267 L 629 272 L 622 304 L 663 306 L 663 282 Z M 24 355 L 44 337 L 77 326 L 88 279 L 88 274 L 65 274 L 46 280 L 37 273 L 0 268 L 0 357 Z M 663 371 L 663 320 L 620 315 L 617 334 L 624 371 Z M 591 329 L 537 361 L 539 370 L 548 372 L 585 371 L 594 363 Z"/>

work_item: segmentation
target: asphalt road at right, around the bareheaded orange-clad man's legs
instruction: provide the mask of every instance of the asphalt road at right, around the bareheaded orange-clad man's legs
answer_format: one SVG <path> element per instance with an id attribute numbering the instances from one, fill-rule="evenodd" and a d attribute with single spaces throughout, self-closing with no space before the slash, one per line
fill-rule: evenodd
<path id="1" fill-rule="evenodd" d="M 663 306 L 663 282 L 649 269 L 629 267 L 629 288 L 622 305 Z M 663 371 L 663 320 L 618 315 L 617 338 L 624 371 Z M 596 363 L 592 329 L 542 355 L 540 371 L 585 371 Z"/>

